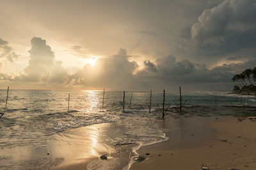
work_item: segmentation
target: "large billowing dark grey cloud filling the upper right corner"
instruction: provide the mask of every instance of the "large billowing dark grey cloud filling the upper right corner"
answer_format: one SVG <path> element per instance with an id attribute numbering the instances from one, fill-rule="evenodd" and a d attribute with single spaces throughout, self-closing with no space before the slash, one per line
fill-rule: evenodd
<path id="1" fill-rule="evenodd" d="M 225 0 L 204 10 L 191 27 L 193 45 L 207 50 L 230 52 L 256 45 L 254 0 Z"/>

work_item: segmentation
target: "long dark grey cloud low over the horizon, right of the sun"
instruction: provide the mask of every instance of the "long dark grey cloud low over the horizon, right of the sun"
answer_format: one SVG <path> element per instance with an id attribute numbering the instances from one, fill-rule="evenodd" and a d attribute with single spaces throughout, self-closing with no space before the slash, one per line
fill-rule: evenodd
<path id="1" fill-rule="evenodd" d="M 146 62 L 146 61 L 145 61 Z M 146 62 L 147 63 L 147 62 Z M 153 65 L 153 64 L 150 64 Z M 154 65 L 155 66 L 155 65 Z M 145 71 L 148 71 L 145 67 Z M 207 69 L 204 64 L 195 64 L 189 60 L 177 60 L 172 55 L 156 60 L 156 73 L 138 73 L 148 80 L 157 79 L 173 82 L 211 82 L 230 81 L 232 73 L 229 70 Z"/>

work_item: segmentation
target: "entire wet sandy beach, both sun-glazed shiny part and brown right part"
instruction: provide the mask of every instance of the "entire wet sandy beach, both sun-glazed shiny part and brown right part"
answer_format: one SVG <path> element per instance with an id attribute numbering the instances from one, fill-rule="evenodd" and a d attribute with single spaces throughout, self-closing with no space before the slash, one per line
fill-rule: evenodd
<path id="1" fill-rule="evenodd" d="M 168 141 L 141 146 L 145 157 L 131 166 L 139 145 L 114 145 L 124 127 L 95 124 L 54 134 L 46 148 L 4 148 L 3 169 L 256 169 L 256 117 L 166 115 L 157 120 Z M 7 154 L 8 153 L 8 154 Z M 7 154 L 7 155 L 6 155 Z M 107 155 L 108 159 L 100 159 Z M 1 168 L 0 168 L 1 169 Z"/>

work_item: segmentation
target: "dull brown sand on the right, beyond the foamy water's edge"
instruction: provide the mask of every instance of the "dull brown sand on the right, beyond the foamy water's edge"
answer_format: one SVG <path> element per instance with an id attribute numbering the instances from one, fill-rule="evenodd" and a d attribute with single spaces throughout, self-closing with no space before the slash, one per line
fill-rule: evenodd
<path id="1" fill-rule="evenodd" d="M 166 117 L 170 139 L 142 146 L 131 169 L 256 169 L 256 117 Z"/>

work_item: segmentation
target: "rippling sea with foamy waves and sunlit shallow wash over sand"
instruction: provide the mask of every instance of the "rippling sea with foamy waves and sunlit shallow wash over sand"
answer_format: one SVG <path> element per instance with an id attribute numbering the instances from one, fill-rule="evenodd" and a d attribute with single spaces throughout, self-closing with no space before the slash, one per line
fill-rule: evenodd
<path id="1" fill-rule="evenodd" d="M 164 97 L 166 115 L 180 114 L 179 93 Z M 256 105 L 255 96 L 228 92 L 182 92 L 182 100 L 190 116 L 241 114 L 237 107 Z M 138 148 L 168 140 L 157 124 L 163 92 L 152 92 L 150 111 L 149 105 L 150 92 L 125 92 L 124 98 L 107 90 L 12 89 L 6 104 L 0 90 L 0 169 L 61 169 L 86 161 L 87 169 L 129 169 Z"/>

